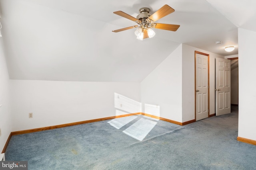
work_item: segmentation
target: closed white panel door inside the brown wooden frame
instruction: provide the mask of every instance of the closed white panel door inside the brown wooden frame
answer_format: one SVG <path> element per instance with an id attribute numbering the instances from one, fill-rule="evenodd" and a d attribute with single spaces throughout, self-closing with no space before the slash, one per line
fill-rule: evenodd
<path id="1" fill-rule="evenodd" d="M 196 62 L 196 121 L 208 117 L 208 55 L 195 53 Z"/>

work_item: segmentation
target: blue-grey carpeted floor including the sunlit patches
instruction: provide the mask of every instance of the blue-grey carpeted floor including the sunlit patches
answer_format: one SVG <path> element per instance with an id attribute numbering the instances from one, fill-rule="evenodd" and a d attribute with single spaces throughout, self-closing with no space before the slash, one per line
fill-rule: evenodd
<path id="1" fill-rule="evenodd" d="M 232 113 L 179 126 L 142 115 L 12 136 L 6 160 L 29 170 L 255 170 Z"/>

